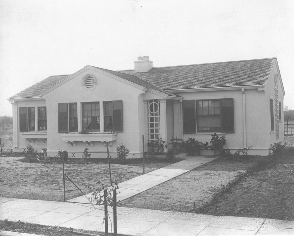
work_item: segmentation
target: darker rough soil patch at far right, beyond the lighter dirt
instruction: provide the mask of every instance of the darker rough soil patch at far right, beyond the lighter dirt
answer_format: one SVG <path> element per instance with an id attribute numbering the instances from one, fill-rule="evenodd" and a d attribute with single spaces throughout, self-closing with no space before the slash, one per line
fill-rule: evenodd
<path id="1" fill-rule="evenodd" d="M 294 158 L 262 162 L 194 212 L 294 221 Z"/>

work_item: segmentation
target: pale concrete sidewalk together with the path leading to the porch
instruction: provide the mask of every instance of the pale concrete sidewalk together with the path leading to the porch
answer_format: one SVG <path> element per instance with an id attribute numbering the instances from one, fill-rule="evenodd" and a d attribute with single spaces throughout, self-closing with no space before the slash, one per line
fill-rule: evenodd
<path id="1" fill-rule="evenodd" d="M 211 156 L 185 158 L 181 162 L 119 183 L 121 193 L 117 195 L 118 200 L 137 195 L 215 159 Z M 0 220 L 104 232 L 104 206 L 87 202 L 84 196 L 71 199 L 70 202 L 1 197 Z M 109 217 L 113 221 L 111 207 Z M 109 219 L 108 223 L 108 232 L 113 232 Z M 117 207 L 117 232 L 128 235 L 294 235 L 294 222 Z"/>

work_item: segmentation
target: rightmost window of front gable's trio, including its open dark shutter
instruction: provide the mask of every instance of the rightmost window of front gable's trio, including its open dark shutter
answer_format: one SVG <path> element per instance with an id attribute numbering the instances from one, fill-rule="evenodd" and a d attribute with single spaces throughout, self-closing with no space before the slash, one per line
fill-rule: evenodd
<path id="1" fill-rule="evenodd" d="M 106 101 L 104 108 L 104 131 L 123 131 L 123 102 Z"/>

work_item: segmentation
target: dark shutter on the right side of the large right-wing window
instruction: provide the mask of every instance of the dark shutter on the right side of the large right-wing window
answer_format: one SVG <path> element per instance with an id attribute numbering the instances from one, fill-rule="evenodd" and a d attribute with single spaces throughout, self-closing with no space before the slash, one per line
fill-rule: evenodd
<path id="1" fill-rule="evenodd" d="M 233 98 L 220 99 L 220 121 L 222 133 L 234 133 Z"/>

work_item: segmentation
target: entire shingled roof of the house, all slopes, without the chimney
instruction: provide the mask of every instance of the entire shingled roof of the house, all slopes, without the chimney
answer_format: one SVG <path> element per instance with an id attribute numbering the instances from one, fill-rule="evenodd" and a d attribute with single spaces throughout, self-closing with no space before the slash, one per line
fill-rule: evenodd
<path id="1" fill-rule="evenodd" d="M 168 90 L 265 85 L 276 60 L 277 58 L 265 58 L 247 61 L 157 67 L 152 68 L 148 72 L 137 73 L 134 70 L 111 71 L 93 67 L 166 96 L 177 97 L 177 95 L 168 92 Z M 70 75 L 49 76 L 11 96 L 9 99 L 41 98 L 42 92 L 66 79 L 68 76 Z"/>

